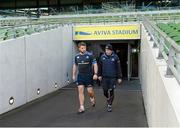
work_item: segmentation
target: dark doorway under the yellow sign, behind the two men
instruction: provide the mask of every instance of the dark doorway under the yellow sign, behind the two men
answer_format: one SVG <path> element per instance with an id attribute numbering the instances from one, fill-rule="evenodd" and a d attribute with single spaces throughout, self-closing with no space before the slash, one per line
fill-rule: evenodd
<path id="1" fill-rule="evenodd" d="M 87 50 L 99 60 L 104 53 L 106 44 L 113 46 L 113 51 L 121 61 L 123 79 L 138 79 L 139 76 L 139 40 L 119 40 L 119 41 L 83 41 L 87 44 Z M 76 43 L 79 43 L 77 41 Z"/>

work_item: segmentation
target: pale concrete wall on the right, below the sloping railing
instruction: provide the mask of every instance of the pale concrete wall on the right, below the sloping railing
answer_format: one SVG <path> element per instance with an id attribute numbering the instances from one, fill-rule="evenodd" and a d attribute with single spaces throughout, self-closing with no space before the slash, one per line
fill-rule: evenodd
<path id="1" fill-rule="evenodd" d="M 140 80 L 149 126 L 180 126 L 180 85 L 172 77 L 166 77 L 167 64 L 157 59 L 158 49 L 153 48 L 142 27 L 140 52 Z"/>

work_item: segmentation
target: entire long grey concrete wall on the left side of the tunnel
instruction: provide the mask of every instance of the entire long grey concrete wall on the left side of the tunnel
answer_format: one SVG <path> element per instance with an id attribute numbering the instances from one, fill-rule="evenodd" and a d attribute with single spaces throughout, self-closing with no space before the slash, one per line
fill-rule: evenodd
<path id="1" fill-rule="evenodd" d="M 72 82 L 73 47 L 72 26 L 1 42 L 0 114 Z"/>

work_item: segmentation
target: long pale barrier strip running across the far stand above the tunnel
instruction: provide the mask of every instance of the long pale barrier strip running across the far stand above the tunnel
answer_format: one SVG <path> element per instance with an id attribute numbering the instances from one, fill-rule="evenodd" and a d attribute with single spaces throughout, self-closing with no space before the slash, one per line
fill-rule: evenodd
<path id="1" fill-rule="evenodd" d="M 106 23 L 106 22 L 130 22 L 140 21 L 141 16 L 147 16 L 154 21 L 178 21 L 180 20 L 180 10 L 167 11 L 167 12 L 132 12 L 132 13 L 112 13 L 112 14 L 93 14 L 93 15 L 57 15 L 57 16 L 45 16 L 41 18 L 28 19 L 28 18 L 2 18 L 0 19 L 1 26 L 15 26 L 22 23 L 36 24 L 44 21 L 56 22 L 59 24 L 69 23 Z"/>

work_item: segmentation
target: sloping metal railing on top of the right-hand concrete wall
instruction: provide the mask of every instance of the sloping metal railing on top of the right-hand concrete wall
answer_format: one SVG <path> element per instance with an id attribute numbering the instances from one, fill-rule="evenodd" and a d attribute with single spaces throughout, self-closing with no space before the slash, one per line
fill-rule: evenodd
<path id="1" fill-rule="evenodd" d="M 154 42 L 153 47 L 159 49 L 157 58 L 163 58 L 167 62 L 166 76 L 174 75 L 180 83 L 180 45 L 161 31 L 147 17 L 143 17 L 143 25 Z"/>

